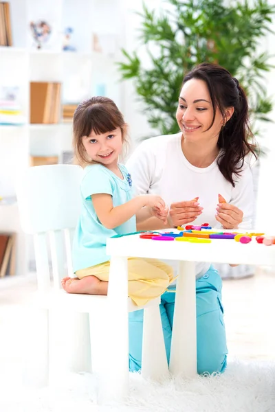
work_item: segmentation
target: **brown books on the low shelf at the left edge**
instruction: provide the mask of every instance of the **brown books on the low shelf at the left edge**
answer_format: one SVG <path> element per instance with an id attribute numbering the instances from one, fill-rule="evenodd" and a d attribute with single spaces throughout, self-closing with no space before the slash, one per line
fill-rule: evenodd
<path id="1" fill-rule="evenodd" d="M 0 277 L 16 271 L 17 233 L 0 233 Z"/>

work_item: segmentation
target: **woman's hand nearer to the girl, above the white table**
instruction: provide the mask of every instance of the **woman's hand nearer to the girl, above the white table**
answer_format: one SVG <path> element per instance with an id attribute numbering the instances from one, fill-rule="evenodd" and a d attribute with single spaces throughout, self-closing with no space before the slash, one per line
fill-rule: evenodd
<path id="1" fill-rule="evenodd" d="M 202 213 L 203 207 L 197 202 L 199 198 L 192 201 L 172 203 L 170 205 L 170 220 L 173 226 L 182 226 L 193 222 Z"/>

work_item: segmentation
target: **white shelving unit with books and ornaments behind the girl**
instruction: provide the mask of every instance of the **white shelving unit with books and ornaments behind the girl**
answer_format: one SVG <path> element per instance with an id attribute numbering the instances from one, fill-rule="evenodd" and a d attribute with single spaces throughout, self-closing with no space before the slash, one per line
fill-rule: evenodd
<path id="1" fill-rule="evenodd" d="M 30 82 L 61 82 L 61 104 L 104 94 L 121 108 L 121 84 L 115 60 L 123 46 L 122 0 L 10 0 L 12 47 L 0 47 L 0 88 L 19 87 L 23 126 L 0 125 L 0 196 L 15 196 L 17 175 L 29 167 L 30 156 L 56 156 L 72 147 L 72 123 L 30 124 Z M 36 49 L 30 22 L 47 21 L 49 41 Z M 64 31 L 72 27 L 70 45 L 62 49 Z M 94 51 L 93 36 L 102 39 Z M 109 39 L 109 40 L 108 40 Z M 107 46 L 107 47 L 106 47 Z M 60 108 L 60 115 L 61 115 Z M 16 203 L 0 201 L 0 231 L 17 231 L 17 273 L 28 271 L 29 242 L 21 232 Z"/>

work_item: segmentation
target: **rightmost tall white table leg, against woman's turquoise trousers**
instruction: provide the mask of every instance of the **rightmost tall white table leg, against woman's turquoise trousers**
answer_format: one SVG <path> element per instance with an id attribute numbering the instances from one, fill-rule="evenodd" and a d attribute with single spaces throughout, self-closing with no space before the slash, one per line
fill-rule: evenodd
<path id="1" fill-rule="evenodd" d="M 170 372 L 193 378 L 197 374 L 195 262 L 179 262 L 170 350 Z"/>

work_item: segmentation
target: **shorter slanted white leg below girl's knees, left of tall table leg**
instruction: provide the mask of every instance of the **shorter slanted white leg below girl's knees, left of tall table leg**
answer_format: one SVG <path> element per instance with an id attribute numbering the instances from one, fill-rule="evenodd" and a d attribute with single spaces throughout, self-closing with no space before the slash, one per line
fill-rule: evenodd
<path id="1" fill-rule="evenodd" d="M 158 305 L 144 309 L 142 376 L 158 381 L 168 376 L 162 319 Z"/>

